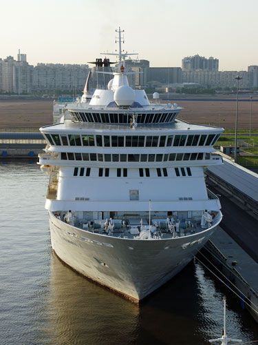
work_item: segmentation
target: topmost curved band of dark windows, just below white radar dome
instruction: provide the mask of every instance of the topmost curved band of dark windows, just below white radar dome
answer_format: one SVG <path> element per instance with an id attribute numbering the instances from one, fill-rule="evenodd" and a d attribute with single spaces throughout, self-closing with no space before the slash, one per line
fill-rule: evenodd
<path id="1" fill-rule="evenodd" d="M 138 124 L 160 124 L 172 122 L 177 112 L 158 112 L 153 114 L 137 114 Z M 131 114 L 123 113 L 101 113 L 101 112 L 74 112 L 71 111 L 75 121 L 91 122 L 95 124 L 130 124 L 133 119 Z"/>

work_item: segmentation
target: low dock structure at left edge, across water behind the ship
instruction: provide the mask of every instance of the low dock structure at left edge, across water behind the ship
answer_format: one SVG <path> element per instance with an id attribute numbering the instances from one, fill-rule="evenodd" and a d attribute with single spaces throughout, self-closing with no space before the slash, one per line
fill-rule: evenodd
<path id="1" fill-rule="evenodd" d="M 41 132 L 0 132 L 1 158 L 37 157 L 45 145 Z"/>

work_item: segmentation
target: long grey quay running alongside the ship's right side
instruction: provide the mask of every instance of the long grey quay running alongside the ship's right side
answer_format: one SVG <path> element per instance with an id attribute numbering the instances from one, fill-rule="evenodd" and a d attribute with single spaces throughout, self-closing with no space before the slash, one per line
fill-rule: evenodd
<path id="1" fill-rule="evenodd" d="M 224 218 L 202 253 L 238 289 L 241 304 L 258 322 L 258 175 L 224 159 L 206 177 L 208 188 L 221 194 Z"/>

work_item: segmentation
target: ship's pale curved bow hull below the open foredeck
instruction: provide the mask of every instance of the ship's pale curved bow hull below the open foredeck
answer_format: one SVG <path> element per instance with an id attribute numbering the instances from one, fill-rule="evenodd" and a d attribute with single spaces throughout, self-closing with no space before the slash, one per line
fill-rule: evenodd
<path id="1" fill-rule="evenodd" d="M 169 281 L 204 246 L 217 224 L 173 239 L 122 239 L 64 223 L 50 212 L 52 248 L 81 275 L 139 302 Z"/>

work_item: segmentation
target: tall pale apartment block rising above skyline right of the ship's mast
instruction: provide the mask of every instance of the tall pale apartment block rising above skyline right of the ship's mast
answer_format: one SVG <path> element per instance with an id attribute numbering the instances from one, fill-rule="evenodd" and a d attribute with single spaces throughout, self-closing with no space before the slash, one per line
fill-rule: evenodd
<path id="1" fill-rule="evenodd" d="M 184 57 L 182 59 L 182 70 L 183 71 L 194 71 L 194 70 L 219 70 L 219 60 L 214 57 L 200 57 L 195 55 L 193 57 Z"/>

